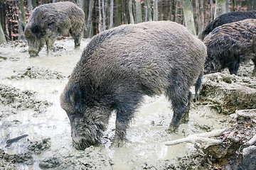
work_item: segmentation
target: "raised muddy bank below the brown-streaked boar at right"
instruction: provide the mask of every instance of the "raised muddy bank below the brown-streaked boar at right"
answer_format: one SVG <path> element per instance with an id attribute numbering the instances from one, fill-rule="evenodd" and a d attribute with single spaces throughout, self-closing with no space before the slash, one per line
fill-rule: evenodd
<path id="1" fill-rule="evenodd" d="M 226 114 L 256 108 L 256 78 L 223 73 L 205 75 L 198 104 Z"/>

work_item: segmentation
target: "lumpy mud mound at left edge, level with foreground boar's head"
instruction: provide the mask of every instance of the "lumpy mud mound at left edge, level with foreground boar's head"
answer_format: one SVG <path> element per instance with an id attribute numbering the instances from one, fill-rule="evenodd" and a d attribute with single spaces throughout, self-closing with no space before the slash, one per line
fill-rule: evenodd
<path id="1" fill-rule="evenodd" d="M 46 108 L 52 103 L 36 99 L 36 92 L 21 91 L 12 86 L 0 84 L 0 111 L 13 113 L 15 110 L 32 108 L 36 113 L 46 112 Z"/>

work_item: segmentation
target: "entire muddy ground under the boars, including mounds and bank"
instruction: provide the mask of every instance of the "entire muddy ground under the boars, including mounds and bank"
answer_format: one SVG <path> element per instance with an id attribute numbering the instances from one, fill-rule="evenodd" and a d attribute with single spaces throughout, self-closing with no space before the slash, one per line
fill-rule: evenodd
<path id="1" fill-rule="evenodd" d="M 256 113 L 238 114 L 256 108 L 252 62 L 242 64 L 238 76 L 226 70 L 206 75 L 199 100 L 191 103 L 189 121 L 177 133 L 167 130 L 172 116 L 169 101 L 164 96 L 145 97 L 123 147 L 112 145 L 113 113 L 100 145 L 84 151 L 73 148 L 59 96 L 89 41 L 82 40 L 80 50 L 74 50 L 72 39 L 58 40 L 50 55 L 43 48 L 33 58 L 24 41 L 0 45 L 0 169 L 256 168 L 255 145 L 247 145 L 256 132 Z M 221 141 L 217 145 L 165 145 L 223 128 L 225 132 L 215 137 Z"/>

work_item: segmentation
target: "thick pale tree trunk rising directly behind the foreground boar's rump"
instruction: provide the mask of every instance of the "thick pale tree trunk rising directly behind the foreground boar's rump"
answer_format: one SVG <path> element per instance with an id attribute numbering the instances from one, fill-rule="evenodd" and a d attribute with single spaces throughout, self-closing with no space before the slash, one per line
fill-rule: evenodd
<path id="1" fill-rule="evenodd" d="M 190 0 L 181 0 L 181 5 L 183 6 L 183 13 L 186 23 L 186 28 L 196 35 L 195 22 L 193 19 L 193 7 Z"/>

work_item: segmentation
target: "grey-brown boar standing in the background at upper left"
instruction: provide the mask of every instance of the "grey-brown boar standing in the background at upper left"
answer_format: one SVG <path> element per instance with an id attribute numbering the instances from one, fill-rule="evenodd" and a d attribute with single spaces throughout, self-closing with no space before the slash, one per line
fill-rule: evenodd
<path id="1" fill-rule="evenodd" d="M 85 13 L 69 1 L 43 4 L 33 10 L 25 27 L 28 53 L 35 57 L 46 43 L 49 52 L 55 39 L 70 33 L 75 47 L 80 45 Z"/>

